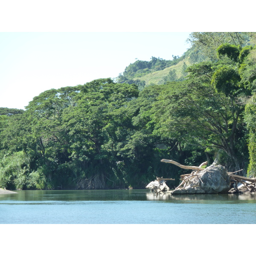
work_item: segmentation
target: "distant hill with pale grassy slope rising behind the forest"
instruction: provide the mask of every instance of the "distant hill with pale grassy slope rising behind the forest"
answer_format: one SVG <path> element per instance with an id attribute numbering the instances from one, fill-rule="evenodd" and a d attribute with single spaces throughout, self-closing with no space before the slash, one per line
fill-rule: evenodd
<path id="1" fill-rule="evenodd" d="M 224 35 L 226 34 L 226 35 Z M 224 35 L 224 36 L 223 36 Z M 239 38 L 235 33 L 208 33 L 209 38 L 203 38 L 204 35 L 198 32 L 192 33 L 188 42 L 192 43 L 183 55 L 174 56 L 172 60 L 165 60 L 160 57 L 151 57 L 150 61 L 137 60 L 125 68 L 123 73 L 117 77 L 118 82 L 135 83 L 139 89 L 143 89 L 147 85 L 166 84 L 170 81 L 183 81 L 186 79 L 186 68 L 192 64 L 198 64 L 202 61 L 214 61 L 217 59 L 216 49 L 221 43 L 236 41 Z M 248 35 L 244 36 L 244 44 L 250 39 Z M 195 40 L 196 39 L 196 40 Z M 203 39 L 203 40 L 201 40 Z M 204 41 L 207 41 L 207 45 Z M 209 49 L 209 46 L 210 48 Z"/>

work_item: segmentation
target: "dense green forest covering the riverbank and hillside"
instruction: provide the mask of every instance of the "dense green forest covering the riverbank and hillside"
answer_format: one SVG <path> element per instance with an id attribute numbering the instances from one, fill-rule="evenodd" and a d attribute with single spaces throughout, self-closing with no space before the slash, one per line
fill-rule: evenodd
<path id="1" fill-rule="evenodd" d="M 173 60 L 137 60 L 115 79 L 42 92 L 0 108 L 0 187 L 145 188 L 210 165 L 256 176 L 256 33 L 193 32 Z M 184 62 L 188 59 L 189 62 Z M 180 75 L 175 67 L 179 65 Z M 155 84 L 143 76 L 170 69 Z"/>

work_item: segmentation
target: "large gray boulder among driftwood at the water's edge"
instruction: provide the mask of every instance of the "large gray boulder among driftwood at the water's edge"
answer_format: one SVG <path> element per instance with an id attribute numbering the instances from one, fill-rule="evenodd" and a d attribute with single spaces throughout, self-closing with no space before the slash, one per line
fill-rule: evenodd
<path id="1" fill-rule="evenodd" d="M 211 194 L 227 193 L 230 190 L 230 177 L 224 166 L 209 166 L 194 176 L 185 178 L 186 184 L 171 194 Z"/>

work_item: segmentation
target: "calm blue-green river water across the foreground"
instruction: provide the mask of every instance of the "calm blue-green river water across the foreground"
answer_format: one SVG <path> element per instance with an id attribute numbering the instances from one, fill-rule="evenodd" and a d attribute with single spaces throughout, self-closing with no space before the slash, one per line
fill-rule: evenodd
<path id="1" fill-rule="evenodd" d="M 0 195 L 0 224 L 256 224 L 256 194 L 18 191 Z"/>

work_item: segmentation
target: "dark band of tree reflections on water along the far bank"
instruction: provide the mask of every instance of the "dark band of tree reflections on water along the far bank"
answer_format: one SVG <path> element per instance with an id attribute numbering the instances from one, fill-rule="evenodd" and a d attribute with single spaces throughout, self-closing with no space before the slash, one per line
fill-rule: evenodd
<path id="1" fill-rule="evenodd" d="M 24 190 L 18 194 L 0 195 L 3 201 L 250 201 L 256 202 L 254 194 L 195 194 L 171 195 L 158 194 L 146 189 L 141 190 Z"/>

